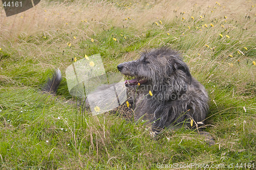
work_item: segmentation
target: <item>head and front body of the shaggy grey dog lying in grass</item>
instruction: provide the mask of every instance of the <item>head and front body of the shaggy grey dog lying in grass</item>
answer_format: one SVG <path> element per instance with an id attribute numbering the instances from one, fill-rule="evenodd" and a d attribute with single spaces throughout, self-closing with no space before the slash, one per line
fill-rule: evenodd
<path id="1" fill-rule="evenodd" d="M 192 126 L 203 124 L 208 95 L 204 86 L 191 76 L 180 54 L 161 47 L 144 51 L 140 56 L 117 66 L 123 75 L 135 77 L 125 81 L 135 119 L 149 120 L 155 130 L 190 126 L 191 119 Z"/>

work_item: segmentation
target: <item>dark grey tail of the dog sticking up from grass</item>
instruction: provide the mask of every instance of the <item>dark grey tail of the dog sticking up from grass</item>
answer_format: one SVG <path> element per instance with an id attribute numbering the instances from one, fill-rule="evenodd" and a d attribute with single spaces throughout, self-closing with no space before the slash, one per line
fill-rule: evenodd
<path id="1" fill-rule="evenodd" d="M 52 75 L 52 78 L 48 78 L 46 84 L 42 86 L 42 91 L 49 93 L 56 93 L 58 86 L 61 82 L 61 72 L 59 69 L 56 69 Z"/>

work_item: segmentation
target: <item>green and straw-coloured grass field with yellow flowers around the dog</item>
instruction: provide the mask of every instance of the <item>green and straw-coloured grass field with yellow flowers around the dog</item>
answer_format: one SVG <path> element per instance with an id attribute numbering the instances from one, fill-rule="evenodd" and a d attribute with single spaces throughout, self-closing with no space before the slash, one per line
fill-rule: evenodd
<path id="1" fill-rule="evenodd" d="M 0 169 L 256 168 L 255 1 L 41 1 L 10 17 L 0 6 Z M 180 51 L 206 87 L 215 145 L 184 128 L 153 139 L 143 123 L 66 102 L 72 58 L 100 54 L 117 72 L 159 46 Z M 42 94 L 55 68 L 57 95 Z"/>

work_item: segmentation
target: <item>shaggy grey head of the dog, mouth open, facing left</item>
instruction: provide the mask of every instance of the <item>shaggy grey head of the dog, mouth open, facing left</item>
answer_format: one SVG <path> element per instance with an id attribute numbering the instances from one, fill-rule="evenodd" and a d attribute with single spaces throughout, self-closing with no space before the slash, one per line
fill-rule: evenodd
<path id="1" fill-rule="evenodd" d="M 154 88 L 164 86 L 163 90 L 177 93 L 190 85 L 192 79 L 180 54 L 166 47 L 144 51 L 138 60 L 121 63 L 117 68 L 123 75 L 135 77 L 126 80 L 126 86 L 147 82 Z"/>

